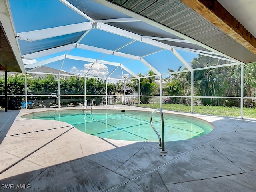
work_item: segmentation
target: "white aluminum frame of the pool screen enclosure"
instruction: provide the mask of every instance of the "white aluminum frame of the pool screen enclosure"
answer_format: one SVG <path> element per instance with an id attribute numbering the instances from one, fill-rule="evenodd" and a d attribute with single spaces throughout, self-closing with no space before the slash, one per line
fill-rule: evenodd
<path id="1" fill-rule="evenodd" d="M 96 1 L 96 0 L 94 0 Z M 10 12 L 10 6 L 8 4 L 8 1 L 1 1 L 1 22 L 4 26 L 5 29 L 7 29 L 7 36 L 8 39 L 11 41 L 11 45 L 12 48 L 14 49 L 14 55 L 17 57 L 18 63 L 20 65 L 20 63 L 22 62 L 21 58 L 27 58 L 27 59 L 35 59 L 35 58 L 40 58 L 43 56 L 47 56 L 50 54 L 55 54 L 58 52 L 62 52 L 62 51 L 67 51 L 70 52 L 70 50 L 74 49 L 74 48 L 81 48 L 81 49 L 85 49 L 85 50 L 91 50 L 91 51 L 96 51 L 96 52 L 100 52 L 100 53 L 105 53 L 107 55 L 116 55 L 116 56 L 121 56 L 124 58 L 130 58 L 131 60 L 140 60 L 145 66 L 147 66 L 150 70 L 152 70 L 154 73 L 157 74 L 157 76 L 160 76 L 160 90 L 162 90 L 162 75 L 165 74 L 161 74 L 156 68 L 154 68 L 152 65 L 150 65 L 148 62 L 146 62 L 146 60 L 144 60 L 143 57 L 149 56 L 151 54 L 155 54 L 157 52 L 160 52 L 162 50 L 169 50 L 171 51 L 174 56 L 176 56 L 176 58 L 178 58 L 178 60 L 180 60 L 180 62 L 182 62 L 182 64 L 184 64 L 184 66 L 186 66 L 186 68 L 188 68 L 188 70 L 185 71 L 179 71 L 179 72 L 169 72 L 167 74 L 176 74 L 176 73 L 181 73 L 181 72 L 190 72 L 191 73 L 191 96 L 173 96 L 173 97 L 191 97 L 191 112 L 193 113 L 193 100 L 194 98 L 240 98 L 241 99 L 241 118 L 243 118 L 243 102 L 244 102 L 244 98 L 248 98 L 248 97 L 244 97 L 243 95 L 243 90 L 244 90 L 244 64 L 238 60 L 235 60 L 234 58 L 231 58 L 230 56 L 227 56 L 226 54 L 223 54 L 222 52 L 219 52 L 218 50 L 214 50 L 213 48 L 210 48 L 184 34 L 181 34 L 180 32 L 177 32 L 175 30 L 172 30 L 171 28 L 168 28 L 158 22 L 152 21 L 148 18 L 145 18 L 139 14 L 136 14 L 130 10 L 127 10 L 125 8 L 122 8 L 116 4 L 113 4 L 112 2 L 109 1 L 96 1 L 97 3 L 100 3 L 104 6 L 110 7 L 114 10 L 120 11 L 128 16 L 130 16 L 130 18 L 118 18 L 118 19 L 106 19 L 106 20 L 93 20 L 92 18 L 90 18 L 89 16 L 87 16 L 86 14 L 84 14 L 82 11 L 80 11 L 78 8 L 76 8 L 75 6 L 73 6 L 72 4 L 70 4 L 68 1 L 66 0 L 60 0 L 60 2 L 62 2 L 63 4 L 65 4 L 66 6 L 68 6 L 69 8 L 71 8 L 72 10 L 74 10 L 75 12 L 77 12 L 78 14 L 80 14 L 81 16 L 83 16 L 84 18 L 86 18 L 87 20 L 89 20 L 88 22 L 83 22 L 83 23 L 78 23 L 78 24 L 71 24 L 71 25 L 66 25 L 66 26 L 59 26 L 59 27 L 54 27 L 54 28 L 47 28 L 47 29 L 42 29 L 42 30 L 34 30 L 34 31 L 29 31 L 29 32 L 21 32 L 16 34 L 16 39 L 14 38 L 14 36 L 11 36 L 11 34 L 15 34 L 15 29 L 14 29 L 14 24 L 12 21 L 12 16 L 11 16 L 11 12 Z M 7 13 L 6 15 L 8 15 L 7 17 L 2 14 L 2 13 Z M 2 19 L 3 17 L 3 19 Z M 9 22 L 8 22 L 9 21 Z M 138 34 L 135 34 L 133 32 L 129 32 L 114 26 L 110 26 L 107 23 L 114 23 L 114 22 L 145 22 L 147 24 L 150 24 L 154 27 L 157 27 L 161 30 L 164 30 L 170 34 L 174 34 L 176 36 L 178 36 L 179 38 L 182 39 L 172 39 L 172 38 L 162 38 L 162 37 L 152 37 L 152 36 L 141 36 Z M 80 44 L 80 41 L 82 40 L 82 38 L 84 38 L 88 32 L 90 32 L 90 30 L 94 30 L 94 29 L 99 29 L 99 30 L 104 30 L 106 32 L 110 32 L 112 34 L 117 34 L 119 36 L 124 36 L 126 38 L 130 38 L 131 42 L 117 48 L 116 50 L 107 50 L 107 49 L 103 49 L 103 48 L 98 48 L 98 47 L 93 47 L 93 46 L 88 46 L 88 45 L 84 45 L 84 44 Z M 46 39 L 46 38 L 52 38 L 52 37 L 56 37 L 56 36 L 62 36 L 62 35 L 66 35 L 66 34 L 72 34 L 72 33 L 76 33 L 76 32 L 82 32 L 85 31 L 84 34 L 76 41 L 76 43 L 72 43 L 72 44 L 68 44 L 65 46 L 59 46 L 56 48 L 51 48 L 48 50 L 43 50 L 43 51 L 39 51 L 39 52 L 34 52 L 31 54 L 25 54 L 23 56 L 20 55 L 20 48 L 18 45 L 18 39 L 20 40 L 26 40 L 26 41 L 37 41 L 37 40 L 42 40 L 42 39 Z M 198 46 L 201 46 L 202 48 L 205 48 L 209 51 L 203 51 L 203 50 L 194 50 L 194 49 L 190 49 L 190 48 L 182 48 L 182 47 L 175 47 L 175 46 L 170 46 L 168 44 L 164 44 L 162 42 L 159 42 L 157 40 L 165 40 L 165 41 L 173 41 L 173 42 L 182 42 L 182 43 L 191 43 L 191 44 L 196 44 Z M 144 56 L 135 56 L 135 55 L 131 55 L 131 54 L 126 54 L 126 53 L 122 53 L 122 52 L 118 52 L 118 50 L 124 48 L 125 46 L 128 46 L 129 44 L 132 44 L 134 42 L 144 42 L 146 44 L 150 44 L 152 46 L 158 47 L 160 48 L 160 50 L 146 54 Z M 224 65 L 218 65 L 218 66 L 208 66 L 208 67 L 202 67 L 202 68 L 197 68 L 197 69 L 193 69 L 187 62 L 186 60 L 184 60 L 184 58 L 182 58 L 182 56 L 180 56 L 180 54 L 176 51 L 177 50 L 183 50 L 183 51 L 188 51 L 188 52 L 193 52 L 196 54 L 201 54 L 201 55 L 205 55 L 205 56 L 210 56 L 212 58 L 218 58 L 218 59 L 222 59 L 222 60 L 227 60 L 227 61 L 233 61 L 234 63 L 230 63 L 230 64 L 224 64 Z M 105 55 L 106 56 L 106 55 Z M 221 56 L 225 57 L 222 58 Z M 101 58 L 103 58 L 104 56 L 102 56 Z M 59 98 L 59 107 L 60 107 L 60 76 L 78 76 L 78 77 L 84 77 L 85 78 L 85 82 L 84 82 L 84 86 L 85 86 L 85 90 L 84 90 L 84 96 L 86 97 L 86 78 L 88 78 L 89 76 L 86 76 L 88 74 L 88 72 L 90 71 L 90 69 L 92 68 L 92 66 L 90 67 L 90 69 L 88 70 L 88 72 L 84 75 L 84 76 L 79 76 L 79 75 L 68 75 L 68 74 L 61 74 L 61 69 L 62 66 L 64 64 L 64 60 L 68 58 L 68 59 L 74 59 L 74 60 L 82 60 L 82 61 L 86 61 L 86 62 L 93 62 L 92 66 L 98 62 L 100 64 L 108 64 L 108 65 L 113 65 L 116 66 L 116 68 L 107 76 L 107 77 L 96 77 L 96 78 L 101 78 L 104 79 L 106 78 L 106 95 L 107 95 L 107 80 L 110 77 L 110 75 L 118 68 L 121 67 L 122 70 L 122 74 L 123 74 L 123 69 L 126 70 L 127 72 L 129 72 L 132 76 L 134 76 L 135 78 L 137 78 L 139 80 L 139 106 L 140 106 L 140 80 L 141 78 L 146 78 L 146 77 L 139 77 L 138 75 L 134 74 L 134 72 L 132 72 L 131 70 L 129 70 L 128 68 L 126 68 L 123 64 L 126 63 L 116 63 L 116 62 L 110 62 L 110 61 L 104 61 L 104 60 L 100 60 L 100 59 L 92 59 L 92 58 L 85 58 L 85 57 L 79 57 L 79 56 L 72 56 L 72 55 L 68 55 L 68 53 L 61 55 L 61 56 L 57 56 L 54 58 L 50 58 L 50 59 L 46 59 L 40 62 L 36 62 L 33 64 L 29 64 L 29 65 L 22 65 L 20 68 L 22 70 L 22 72 L 25 72 L 25 68 L 26 69 L 30 69 L 27 72 L 25 72 L 25 98 L 26 98 L 26 108 L 27 108 L 27 74 L 30 73 L 36 73 L 36 74 L 54 74 L 54 75 L 58 75 L 58 98 Z M 63 60 L 60 71 L 58 74 L 55 73 L 40 73 L 40 72 L 33 72 L 32 70 L 39 67 L 39 66 L 43 66 L 45 64 L 51 63 L 51 62 L 55 62 L 58 60 Z M 131 60 L 127 61 L 130 62 Z M 22 62 L 23 63 L 23 62 Z M 208 68 L 219 68 L 219 67 L 225 67 L 225 66 L 232 66 L 232 65 L 241 65 L 241 95 L 240 97 L 204 97 L 204 96 L 194 96 L 194 71 L 196 70 L 204 70 L 204 69 L 208 69 Z M 124 76 L 124 75 L 123 75 Z M 150 77 L 150 76 L 148 76 Z M 95 77 L 90 77 L 90 78 L 95 78 Z M 116 79 L 116 80 L 124 80 L 123 79 L 118 79 L 118 78 L 110 78 L 110 79 Z M 125 88 L 124 88 L 125 91 Z M 125 94 L 125 92 L 124 92 Z M 38 95 L 36 95 L 38 96 Z M 68 96 L 68 95 L 65 95 Z M 75 96 L 75 95 L 72 95 Z M 81 96 L 81 95 L 78 95 Z M 160 92 L 160 99 L 162 98 L 162 91 Z M 253 98 L 253 97 L 252 97 Z M 160 108 L 162 107 L 162 104 L 160 102 Z"/>

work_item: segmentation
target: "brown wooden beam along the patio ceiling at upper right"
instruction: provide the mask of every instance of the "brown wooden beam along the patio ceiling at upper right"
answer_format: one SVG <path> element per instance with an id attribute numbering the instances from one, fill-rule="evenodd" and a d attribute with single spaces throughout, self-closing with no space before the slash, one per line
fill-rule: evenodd
<path id="1" fill-rule="evenodd" d="M 256 54 L 256 38 L 216 0 L 181 0 L 200 16 Z M 232 2 L 230 2 L 232 3 Z"/>

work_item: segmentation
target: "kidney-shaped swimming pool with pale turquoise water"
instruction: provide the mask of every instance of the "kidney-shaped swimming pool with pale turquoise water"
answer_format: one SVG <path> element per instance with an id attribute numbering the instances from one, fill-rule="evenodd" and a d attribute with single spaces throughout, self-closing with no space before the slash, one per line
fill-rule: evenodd
<path id="1" fill-rule="evenodd" d="M 158 141 L 158 137 L 150 126 L 151 112 L 129 110 L 54 110 L 35 112 L 22 116 L 29 119 L 63 121 L 78 130 L 116 140 Z M 160 114 L 154 114 L 152 122 L 161 135 Z M 164 140 L 177 141 L 199 137 L 213 130 L 212 124 L 177 114 L 164 113 Z"/>

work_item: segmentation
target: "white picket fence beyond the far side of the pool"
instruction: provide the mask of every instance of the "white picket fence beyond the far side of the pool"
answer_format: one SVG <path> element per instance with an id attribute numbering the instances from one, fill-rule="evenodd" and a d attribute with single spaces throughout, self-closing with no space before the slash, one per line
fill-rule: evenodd
<path id="1" fill-rule="evenodd" d="M 102 97 L 103 105 L 106 105 L 106 95 Z M 126 105 L 135 105 L 138 103 L 138 96 L 134 95 L 108 95 L 107 104 L 116 105 L 116 104 L 126 104 Z"/>

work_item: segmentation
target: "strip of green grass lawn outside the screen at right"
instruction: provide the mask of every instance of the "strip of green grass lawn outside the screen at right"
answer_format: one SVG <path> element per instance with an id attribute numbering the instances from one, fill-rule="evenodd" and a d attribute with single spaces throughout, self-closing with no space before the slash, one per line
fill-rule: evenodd
<path id="1" fill-rule="evenodd" d="M 140 106 L 148 107 L 148 108 L 159 108 L 159 104 L 157 103 L 140 104 Z M 182 105 L 182 104 L 164 104 L 163 103 L 162 109 L 172 110 L 172 111 L 191 112 L 190 105 Z M 194 106 L 194 112 L 200 113 L 200 114 L 217 115 L 217 116 L 231 116 L 231 117 L 240 116 L 240 108 L 237 108 L 237 107 Z M 244 108 L 243 117 L 256 118 L 256 108 Z"/>

